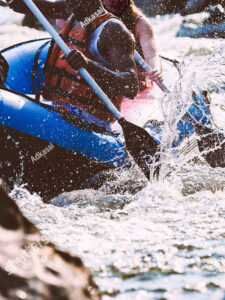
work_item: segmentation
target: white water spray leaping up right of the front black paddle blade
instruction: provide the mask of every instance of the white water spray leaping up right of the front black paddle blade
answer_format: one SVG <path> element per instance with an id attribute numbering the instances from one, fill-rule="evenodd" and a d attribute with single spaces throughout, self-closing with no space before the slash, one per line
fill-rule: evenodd
<path id="1" fill-rule="evenodd" d="M 166 95 L 166 97 L 164 96 L 161 99 L 161 108 L 165 119 L 161 145 L 162 149 L 167 149 L 166 152 L 163 153 L 164 156 L 162 156 L 163 168 L 161 178 L 164 178 L 168 174 L 171 164 L 179 168 L 184 162 L 196 156 L 196 152 L 192 152 L 192 156 L 188 155 L 186 158 L 183 156 L 178 157 L 177 151 L 171 149 L 173 141 L 178 137 L 177 123 L 182 119 L 182 116 L 185 115 L 193 103 L 192 91 L 195 91 L 196 87 L 200 87 L 202 90 L 208 90 L 211 93 L 210 110 L 212 117 L 206 114 L 204 114 L 204 116 L 210 120 L 212 128 L 219 129 L 220 132 L 224 131 L 225 122 L 221 122 L 221 115 L 223 115 L 224 120 L 222 110 L 224 111 L 223 105 L 225 99 L 224 50 L 225 44 L 222 42 L 219 47 L 214 48 L 212 51 L 205 51 L 205 55 L 201 60 L 199 60 L 199 57 L 195 57 L 198 52 L 194 51 L 194 56 L 183 60 L 179 65 L 179 73 L 181 76 L 174 85 L 172 94 Z M 189 51 L 188 53 L 190 56 L 191 52 Z M 199 53 L 202 52 L 200 51 Z M 217 99 L 216 104 L 214 99 Z M 219 99 L 220 104 L 218 103 Z M 220 109 L 220 112 L 217 114 L 214 113 L 215 105 Z"/>

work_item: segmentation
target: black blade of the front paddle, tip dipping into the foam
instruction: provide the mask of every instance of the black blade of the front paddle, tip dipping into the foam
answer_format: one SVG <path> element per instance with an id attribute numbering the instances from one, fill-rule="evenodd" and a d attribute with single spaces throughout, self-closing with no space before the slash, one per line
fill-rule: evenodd
<path id="1" fill-rule="evenodd" d="M 150 180 L 150 165 L 153 161 L 158 160 L 158 144 L 144 128 L 130 123 L 124 118 L 118 122 L 123 129 L 127 151 Z"/>

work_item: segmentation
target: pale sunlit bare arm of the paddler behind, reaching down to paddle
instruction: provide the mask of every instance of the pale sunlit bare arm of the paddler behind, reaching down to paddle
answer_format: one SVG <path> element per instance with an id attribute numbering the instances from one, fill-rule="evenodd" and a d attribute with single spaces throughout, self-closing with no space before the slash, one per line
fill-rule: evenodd
<path id="1" fill-rule="evenodd" d="M 153 81 L 162 81 L 162 66 L 158 54 L 153 27 L 146 17 L 138 19 L 135 27 L 135 36 L 140 41 L 144 59 L 153 69 L 150 73 L 150 79 Z"/>

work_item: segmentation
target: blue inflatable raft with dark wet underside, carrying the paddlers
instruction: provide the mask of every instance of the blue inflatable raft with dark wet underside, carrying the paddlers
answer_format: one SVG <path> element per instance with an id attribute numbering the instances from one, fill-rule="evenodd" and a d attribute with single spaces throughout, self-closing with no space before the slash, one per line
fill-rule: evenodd
<path id="1" fill-rule="evenodd" d="M 43 85 L 49 47 L 50 39 L 41 39 L 1 52 L 9 69 L 0 89 L 0 176 L 8 185 L 27 184 L 43 199 L 80 188 L 96 173 L 127 161 L 121 137 L 111 130 L 59 114 L 28 96 L 39 94 Z M 173 147 L 194 132 L 196 122 L 207 125 L 209 114 L 203 97 L 195 92 L 193 104 L 177 124 Z M 160 143 L 156 126 L 149 129 Z"/>

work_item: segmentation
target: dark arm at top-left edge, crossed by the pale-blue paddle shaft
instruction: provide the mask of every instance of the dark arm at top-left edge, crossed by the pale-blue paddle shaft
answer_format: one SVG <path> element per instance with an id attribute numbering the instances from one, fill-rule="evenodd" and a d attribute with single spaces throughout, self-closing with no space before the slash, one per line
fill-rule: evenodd
<path id="1" fill-rule="evenodd" d="M 7 2 L 9 7 L 18 13 L 26 15 L 32 14 L 22 0 L 7 0 Z M 47 18 L 66 20 L 70 15 L 66 0 L 34 0 L 34 3 Z"/>

